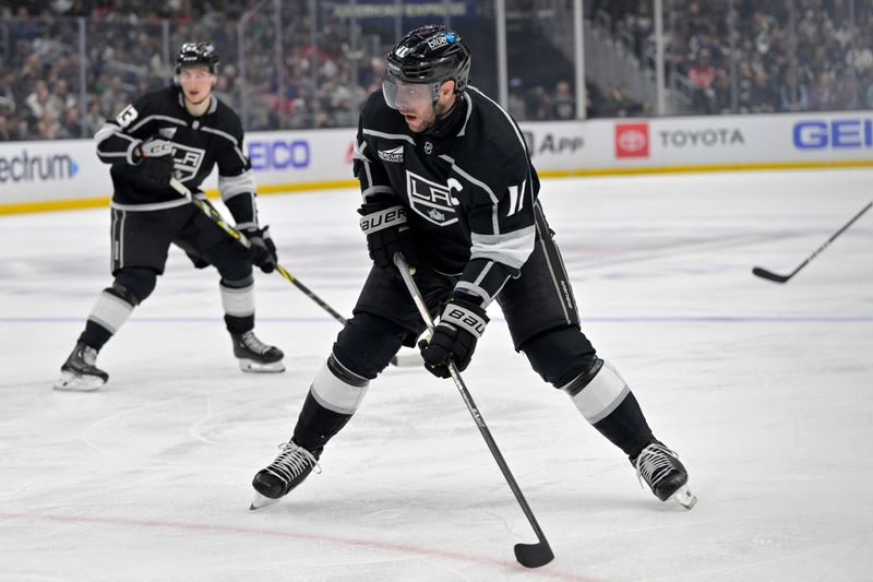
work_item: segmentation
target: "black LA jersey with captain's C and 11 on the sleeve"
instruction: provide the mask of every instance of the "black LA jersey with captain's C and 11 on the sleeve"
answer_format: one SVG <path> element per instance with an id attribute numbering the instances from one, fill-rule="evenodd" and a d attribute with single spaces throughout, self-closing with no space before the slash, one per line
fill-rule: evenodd
<path id="1" fill-rule="evenodd" d="M 534 250 L 539 178 L 517 123 L 469 87 L 443 136 L 414 133 L 381 92 L 361 111 L 355 174 L 363 202 L 406 207 L 420 258 L 487 305 Z"/>

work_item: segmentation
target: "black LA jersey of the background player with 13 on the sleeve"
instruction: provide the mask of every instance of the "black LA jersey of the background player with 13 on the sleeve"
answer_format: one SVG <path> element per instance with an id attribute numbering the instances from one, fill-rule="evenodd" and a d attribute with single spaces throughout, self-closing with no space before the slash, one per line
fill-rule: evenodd
<path id="1" fill-rule="evenodd" d="M 172 188 L 143 188 L 132 154 L 148 138 L 174 143 L 175 175 L 192 192 L 218 165 L 218 190 L 239 228 L 256 227 L 254 176 L 243 149 L 239 116 L 212 95 L 206 112 L 193 117 L 186 109 L 179 87 L 145 94 L 107 121 L 94 136 L 97 155 L 111 164 L 112 207 L 147 211 L 188 203 Z"/>

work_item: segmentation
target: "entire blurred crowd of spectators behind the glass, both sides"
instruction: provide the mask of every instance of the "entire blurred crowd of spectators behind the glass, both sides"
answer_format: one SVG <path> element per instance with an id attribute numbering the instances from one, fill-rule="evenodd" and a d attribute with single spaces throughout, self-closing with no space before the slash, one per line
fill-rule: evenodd
<path id="1" fill-rule="evenodd" d="M 347 21 L 327 8 L 333 4 L 284 0 L 274 14 L 268 0 L 4 0 L 0 141 L 93 135 L 139 95 L 169 83 L 176 48 L 192 39 L 218 47 L 216 93 L 244 111 L 247 129 L 355 126 L 360 103 L 380 86 L 385 45 L 374 34 L 351 46 Z M 690 112 L 873 108 L 873 8 L 866 0 L 665 4 L 675 15 L 665 23 L 668 74 L 675 79 L 671 86 L 684 91 Z M 313 5 L 321 7 L 316 13 Z M 610 33 L 645 63 L 654 44 L 650 5 L 586 0 L 586 13 L 606 15 Z M 624 87 L 589 83 L 586 91 L 587 117 L 651 112 Z M 530 87 L 512 78 L 509 99 L 521 120 L 576 117 L 566 78 Z"/>

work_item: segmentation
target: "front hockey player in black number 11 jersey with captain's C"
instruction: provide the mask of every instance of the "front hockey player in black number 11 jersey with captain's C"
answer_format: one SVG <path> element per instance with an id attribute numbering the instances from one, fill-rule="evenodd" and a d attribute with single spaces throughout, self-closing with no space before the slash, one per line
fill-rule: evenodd
<path id="1" fill-rule="evenodd" d="M 393 264 L 399 252 L 432 313 L 424 366 L 449 377 L 470 363 L 500 304 L 515 348 L 621 449 L 661 501 L 696 498 L 677 454 L 658 441 L 634 394 L 579 329 L 577 306 L 537 199 L 539 179 L 515 121 L 467 83 L 457 33 L 424 26 L 387 55 L 381 92 L 360 115 L 355 174 L 370 271 L 332 354 L 312 380 L 294 436 L 253 480 L 252 509 L 298 486 L 358 409 L 368 384 L 424 324 Z"/>

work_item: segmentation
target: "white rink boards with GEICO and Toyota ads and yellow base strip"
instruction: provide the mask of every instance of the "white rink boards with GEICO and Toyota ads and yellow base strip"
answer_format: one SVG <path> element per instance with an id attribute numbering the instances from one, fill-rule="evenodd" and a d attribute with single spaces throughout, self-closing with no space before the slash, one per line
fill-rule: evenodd
<path id="1" fill-rule="evenodd" d="M 521 129 L 543 177 L 873 166 L 870 111 L 543 121 Z M 352 128 L 249 133 L 259 192 L 356 185 L 354 140 Z M 214 191 L 216 173 L 204 187 Z M 0 144 L 0 214 L 99 206 L 110 193 L 93 140 Z"/>

